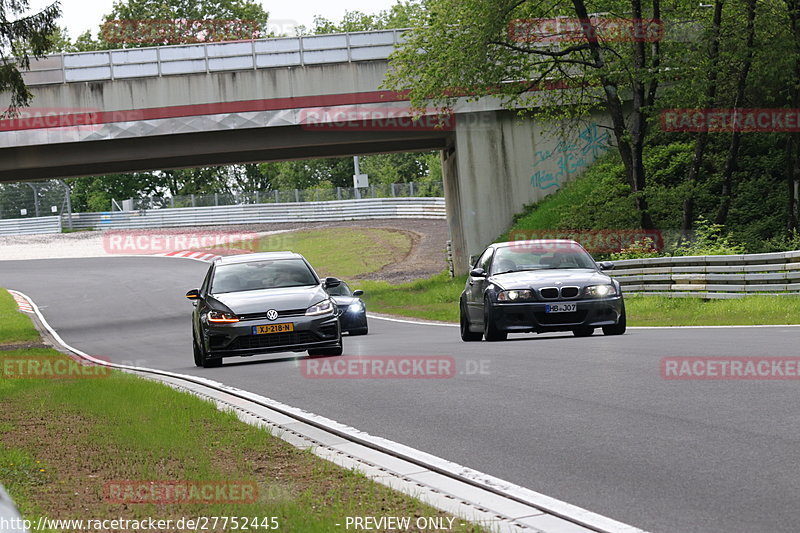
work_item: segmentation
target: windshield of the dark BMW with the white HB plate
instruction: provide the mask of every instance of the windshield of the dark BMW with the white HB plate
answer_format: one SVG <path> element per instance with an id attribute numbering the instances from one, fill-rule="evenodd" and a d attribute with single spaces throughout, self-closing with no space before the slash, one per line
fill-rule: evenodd
<path id="1" fill-rule="evenodd" d="M 576 244 L 515 244 L 498 248 L 492 261 L 492 274 L 520 270 L 591 268 L 597 266 Z"/>

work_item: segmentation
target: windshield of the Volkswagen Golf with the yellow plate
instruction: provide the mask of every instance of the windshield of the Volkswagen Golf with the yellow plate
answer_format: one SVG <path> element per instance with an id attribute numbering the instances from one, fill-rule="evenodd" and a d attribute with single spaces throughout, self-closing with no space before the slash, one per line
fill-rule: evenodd
<path id="1" fill-rule="evenodd" d="M 278 259 L 219 265 L 211 282 L 211 292 L 255 291 L 317 285 L 314 273 L 302 259 Z"/>

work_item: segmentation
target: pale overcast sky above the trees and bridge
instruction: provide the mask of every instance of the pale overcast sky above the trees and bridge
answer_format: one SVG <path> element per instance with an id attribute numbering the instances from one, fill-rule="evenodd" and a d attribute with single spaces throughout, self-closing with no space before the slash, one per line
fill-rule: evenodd
<path id="1" fill-rule="evenodd" d="M 52 0 L 31 0 L 32 8 L 49 5 Z M 264 9 L 269 11 L 271 24 L 276 30 L 288 29 L 297 25 L 311 27 L 314 15 L 338 21 L 345 11 L 375 13 L 389 8 L 395 0 L 261 0 Z M 75 38 L 86 30 L 96 36 L 103 15 L 111 11 L 114 0 L 61 0 L 61 19 L 59 26 L 66 26 L 70 36 Z"/>

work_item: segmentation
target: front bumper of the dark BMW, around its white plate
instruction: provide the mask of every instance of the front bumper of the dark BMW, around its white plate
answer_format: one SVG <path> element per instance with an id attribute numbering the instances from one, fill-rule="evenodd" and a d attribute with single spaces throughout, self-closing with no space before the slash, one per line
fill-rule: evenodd
<path id="1" fill-rule="evenodd" d="M 569 313 L 547 313 L 548 304 L 577 304 Z M 521 303 L 494 303 L 492 318 L 500 331 L 525 333 L 535 331 L 571 331 L 579 327 L 613 326 L 624 309 L 622 296 L 583 300 L 553 300 Z"/>

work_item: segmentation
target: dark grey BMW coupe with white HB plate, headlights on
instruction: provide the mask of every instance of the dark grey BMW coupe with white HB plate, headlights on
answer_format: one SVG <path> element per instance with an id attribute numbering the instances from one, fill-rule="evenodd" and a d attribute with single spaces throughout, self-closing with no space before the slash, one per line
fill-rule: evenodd
<path id="1" fill-rule="evenodd" d="M 575 241 L 534 240 L 490 245 L 461 293 L 461 338 L 505 340 L 509 333 L 625 333 L 619 283 Z"/>

